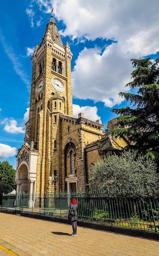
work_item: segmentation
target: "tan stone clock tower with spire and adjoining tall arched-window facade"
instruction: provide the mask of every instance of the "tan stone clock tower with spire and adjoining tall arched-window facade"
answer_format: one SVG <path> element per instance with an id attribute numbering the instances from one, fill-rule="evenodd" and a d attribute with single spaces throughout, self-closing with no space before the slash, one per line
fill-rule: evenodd
<path id="1" fill-rule="evenodd" d="M 30 112 L 17 155 L 17 192 L 53 192 L 55 175 L 57 190 L 85 189 L 84 148 L 101 139 L 104 126 L 82 113 L 72 117 L 71 59 L 52 16 L 31 58 Z"/>

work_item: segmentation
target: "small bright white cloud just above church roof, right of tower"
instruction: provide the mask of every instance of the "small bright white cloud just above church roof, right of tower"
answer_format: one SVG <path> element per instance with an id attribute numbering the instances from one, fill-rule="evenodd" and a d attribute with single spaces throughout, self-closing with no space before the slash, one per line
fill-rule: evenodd
<path id="1" fill-rule="evenodd" d="M 97 111 L 98 109 L 96 108 L 96 106 L 94 107 L 90 107 L 90 106 L 84 106 L 84 107 L 80 107 L 79 105 L 75 105 L 73 104 L 73 116 L 78 118 L 78 114 L 79 113 L 83 113 L 84 117 L 92 120 L 92 121 L 96 121 L 98 119 L 101 119 L 101 117 L 99 117 L 97 115 Z"/>

